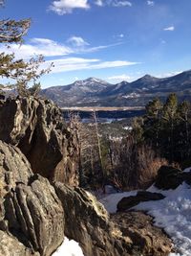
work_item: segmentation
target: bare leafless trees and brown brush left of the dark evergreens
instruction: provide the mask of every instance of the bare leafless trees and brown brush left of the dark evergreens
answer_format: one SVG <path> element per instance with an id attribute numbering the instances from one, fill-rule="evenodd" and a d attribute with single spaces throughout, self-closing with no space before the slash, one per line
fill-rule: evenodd
<path id="1" fill-rule="evenodd" d="M 159 167 L 167 164 L 149 145 L 137 142 L 132 132 L 127 130 L 123 137 L 118 133 L 111 136 L 108 127 L 104 132 L 96 121 L 96 113 L 90 124 L 83 124 L 79 116 L 72 114 L 70 126 L 77 129 L 82 187 L 103 191 L 106 184 L 119 190 L 147 188 Z"/>

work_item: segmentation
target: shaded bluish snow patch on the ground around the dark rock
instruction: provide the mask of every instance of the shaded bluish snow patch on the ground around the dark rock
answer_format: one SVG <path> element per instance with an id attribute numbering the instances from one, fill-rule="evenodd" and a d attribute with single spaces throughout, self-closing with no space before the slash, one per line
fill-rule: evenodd
<path id="1" fill-rule="evenodd" d="M 185 170 L 188 172 L 188 170 Z M 154 217 L 155 224 L 164 228 L 178 248 L 178 254 L 170 256 L 191 255 L 191 188 L 182 183 L 176 190 L 160 191 L 155 186 L 148 189 L 150 192 L 161 193 L 166 198 L 158 201 L 141 202 L 133 209 L 147 211 Z M 117 202 L 124 197 L 135 196 L 137 191 L 109 195 L 101 199 L 105 208 L 114 213 Z"/>

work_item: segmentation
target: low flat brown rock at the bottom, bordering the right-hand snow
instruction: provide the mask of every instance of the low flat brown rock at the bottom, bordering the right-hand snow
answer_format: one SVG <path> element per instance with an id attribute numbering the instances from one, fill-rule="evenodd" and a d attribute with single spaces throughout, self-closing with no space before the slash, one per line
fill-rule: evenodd
<path id="1" fill-rule="evenodd" d="M 153 225 L 152 217 L 142 212 L 117 213 L 111 217 L 117 222 L 123 236 L 128 236 L 140 254 L 145 256 L 167 256 L 172 251 L 171 240 L 159 227 Z"/>

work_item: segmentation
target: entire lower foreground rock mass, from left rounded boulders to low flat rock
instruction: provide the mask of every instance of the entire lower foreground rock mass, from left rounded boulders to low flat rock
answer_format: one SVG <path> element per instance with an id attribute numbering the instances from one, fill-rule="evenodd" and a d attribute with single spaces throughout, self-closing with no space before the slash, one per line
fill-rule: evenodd
<path id="1" fill-rule="evenodd" d="M 1 141 L 0 169 L 0 255 L 51 256 L 64 234 L 85 256 L 158 256 L 170 250 L 146 217 L 125 213 L 111 220 L 90 193 L 33 175 L 25 155 Z"/>

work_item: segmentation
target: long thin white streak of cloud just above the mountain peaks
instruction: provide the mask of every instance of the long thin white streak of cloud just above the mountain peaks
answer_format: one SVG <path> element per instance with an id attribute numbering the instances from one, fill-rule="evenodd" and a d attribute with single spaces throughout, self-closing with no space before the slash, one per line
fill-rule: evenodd
<path id="1" fill-rule="evenodd" d="M 96 58 L 60 58 L 46 61 L 43 65 L 47 67 L 53 62 L 52 73 L 62 73 L 76 70 L 94 70 L 104 68 L 115 68 L 138 64 L 125 60 L 102 61 Z"/>

